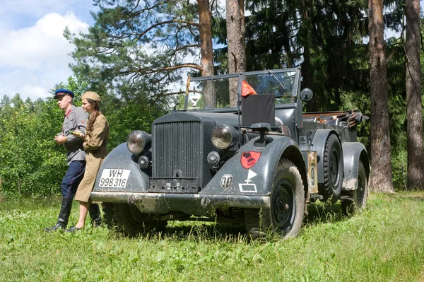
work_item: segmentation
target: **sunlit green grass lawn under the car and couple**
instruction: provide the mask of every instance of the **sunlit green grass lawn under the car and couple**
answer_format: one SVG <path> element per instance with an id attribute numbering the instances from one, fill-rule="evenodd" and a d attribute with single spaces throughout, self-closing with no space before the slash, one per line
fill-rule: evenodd
<path id="1" fill-rule="evenodd" d="M 90 223 L 45 233 L 57 199 L 2 201 L 0 281 L 424 281 L 424 193 L 372 194 L 349 218 L 331 208 L 310 206 L 290 240 L 191 222 L 130 239 Z"/>

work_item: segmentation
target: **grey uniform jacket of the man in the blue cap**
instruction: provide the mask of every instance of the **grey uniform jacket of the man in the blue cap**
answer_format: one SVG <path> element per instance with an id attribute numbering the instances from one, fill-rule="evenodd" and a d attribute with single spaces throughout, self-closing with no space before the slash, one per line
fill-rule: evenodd
<path id="1" fill-rule="evenodd" d="M 69 131 L 81 131 L 83 134 L 86 132 L 86 122 L 88 113 L 84 112 L 82 107 L 71 106 L 65 114 L 64 124 L 62 125 L 62 134 L 66 136 L 66 156 L 68 165 L 73 160 L 85 160 L 86 152 L 83 148 L 83 139 L 73 136 Z"/>

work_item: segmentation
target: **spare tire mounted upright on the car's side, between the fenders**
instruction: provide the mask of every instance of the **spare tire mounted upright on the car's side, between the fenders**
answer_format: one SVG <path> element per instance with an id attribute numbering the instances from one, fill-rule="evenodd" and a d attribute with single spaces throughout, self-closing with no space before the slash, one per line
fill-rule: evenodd
<path id="1" fill-rule="evenodd" d="M 318 184 L 319 194 L 324 201 L 331 199 L 335 203 L 340 198 L 343 184 L 343 152 L 336 134 L 330 134 L 326 141 L 323 162 L 324 183 Z"/>

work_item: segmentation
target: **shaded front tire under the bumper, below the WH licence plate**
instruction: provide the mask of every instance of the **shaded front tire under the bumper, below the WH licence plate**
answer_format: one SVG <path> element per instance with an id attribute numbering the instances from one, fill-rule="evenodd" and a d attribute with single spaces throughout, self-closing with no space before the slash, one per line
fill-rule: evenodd
<path id="1" fill-rule="evenodd" d="M 154 221 L 139 211 L 134 205 L 124 203 L 103 203 L 105 223 L 110 227 L 116 227 L 119 232 L 128 237 L 134 237 L 141 233 L 164 230 L 166 221 Z"/>

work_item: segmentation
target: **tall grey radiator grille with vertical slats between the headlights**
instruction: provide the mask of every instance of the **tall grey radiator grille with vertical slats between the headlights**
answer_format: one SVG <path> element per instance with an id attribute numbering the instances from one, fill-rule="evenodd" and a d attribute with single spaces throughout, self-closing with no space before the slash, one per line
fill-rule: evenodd
<path id="1" fill-rule="evenodd" d="M 201 122 L 153 126 L 153 177 L 199 177 L 203 169 Z"/>

